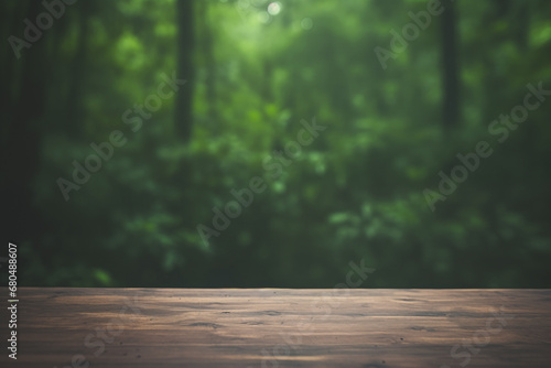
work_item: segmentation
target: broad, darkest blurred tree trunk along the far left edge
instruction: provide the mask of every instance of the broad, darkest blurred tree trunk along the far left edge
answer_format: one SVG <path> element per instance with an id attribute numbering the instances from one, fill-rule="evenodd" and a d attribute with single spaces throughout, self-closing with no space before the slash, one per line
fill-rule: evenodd
<path id="1" fill-rule="evenodd" d="M 40 1 L 29 2 L 29 19 L 36 19 L 43 11 Z M 36 243 L 35 234 L 41 234 L 40 215 L 34 206 L 33 181 L 40 164 L 40 144 L 47 76 L 48 55 L 45 40 L 39 40 L 32 47 L 24 50 L 17 73 L 18 94 L 13 98 L 13 108 L 7 121 L 8 140 L 2 145 L 1 154 L 1 193 L 6 196 L 7 221 L 11 241 Z M 15 56 L 11 56 L 15 57 Z"/>

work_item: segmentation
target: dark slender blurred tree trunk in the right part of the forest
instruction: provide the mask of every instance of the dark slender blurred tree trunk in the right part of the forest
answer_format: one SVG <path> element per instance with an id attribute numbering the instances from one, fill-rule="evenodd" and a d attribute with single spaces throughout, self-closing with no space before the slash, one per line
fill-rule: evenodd
<path id="1" fill-rule="evenodd" d="M 457 30 L 455 4 L 444 3 L 442 30 L 442 122 L 445 128 L 456 127 L 460 121 L 460 83 L 457 73 Z"/>

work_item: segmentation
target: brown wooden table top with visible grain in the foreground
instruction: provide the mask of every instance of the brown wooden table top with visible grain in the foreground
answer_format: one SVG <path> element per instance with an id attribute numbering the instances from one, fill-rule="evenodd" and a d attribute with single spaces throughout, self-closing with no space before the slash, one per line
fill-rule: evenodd
<path id="1" fill-rule="evenodd" d="M 551 367 L 551 290 L 23 288 L 18 296 L 18 359 L 2 347 L 1 367 Z"/>

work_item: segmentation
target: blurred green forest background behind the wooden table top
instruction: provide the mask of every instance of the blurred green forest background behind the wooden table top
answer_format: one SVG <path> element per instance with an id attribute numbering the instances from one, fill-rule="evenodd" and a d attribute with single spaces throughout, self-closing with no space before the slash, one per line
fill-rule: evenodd
<path id="1" fill-rule="evenodd" d="M 386 69 L 376 47 L 426 1 L 71 2 L 17 57 L 10 36 L 47 10 L 0 1 L 21 285 L 333 288 L 364 259 L 361 288 L 551 286 L 551 100 L 505 142 L 488 133 L 527 84 L 551 89 L 551 1 L 443 1 Z M 132 111 L 173 73 L 186 83 L 159 110 Z M 271 175 L 314 120 L 326 129 Z M 126 144 L 65 201 L 58 178 L 116 130 Z M 480 140 L 493 155 L 432 212 L 423 191 Z M 266 191 L 203 241 L 255 176 Z"/>

